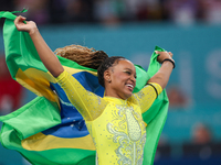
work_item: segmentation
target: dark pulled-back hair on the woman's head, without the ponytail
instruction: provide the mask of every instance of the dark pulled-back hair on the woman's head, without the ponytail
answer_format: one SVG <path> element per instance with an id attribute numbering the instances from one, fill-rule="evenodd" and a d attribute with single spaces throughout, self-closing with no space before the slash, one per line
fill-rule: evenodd
<path id="1" fill-rule="evenodd" d="M 99 84 L 105 87 L 104 84 L 104 72 L 107 70 L 109 67 L 113 67 L 115 65 L 118 64 L 119 61 L 122 59 L 126 59 L 125 57 L 122 56 L 112 56 L 108 57 L 106 59 L 104 59 L 104 62 L 101 64 L 101 66 L 97 69 L 97 77 L 98 77 L 98 81 Z"/>

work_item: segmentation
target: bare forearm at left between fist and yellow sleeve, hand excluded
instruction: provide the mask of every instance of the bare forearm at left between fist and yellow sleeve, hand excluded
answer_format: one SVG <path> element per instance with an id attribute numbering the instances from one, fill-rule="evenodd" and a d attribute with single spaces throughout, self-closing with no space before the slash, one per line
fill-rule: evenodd
<path id="1" fill-rule="evenodd" d="M 33 41 L 33 44 L 36 48 L 36 52 L 42 63 L 54 77 L 57 77 L 64 70 L 59 58 L 54 55 L 54 53 L 48 46 L 48 44 L 45 43 L 45 41 L 43 40 L 43 37 L 41 36 L 36 28 L 30 31 L 29 34 Z"/>

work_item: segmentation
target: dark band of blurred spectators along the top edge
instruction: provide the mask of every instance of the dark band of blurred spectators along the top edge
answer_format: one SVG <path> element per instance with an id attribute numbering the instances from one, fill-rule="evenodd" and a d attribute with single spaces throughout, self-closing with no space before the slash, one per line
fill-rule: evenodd
<path id="1" fill-rule="evenodd" d="M 2 0 L 1 11 L 22 13 L 38 24 L 70 22 L 171 21 L 189 25 L 197 21 L 221 24 L 220 0 Z"/>

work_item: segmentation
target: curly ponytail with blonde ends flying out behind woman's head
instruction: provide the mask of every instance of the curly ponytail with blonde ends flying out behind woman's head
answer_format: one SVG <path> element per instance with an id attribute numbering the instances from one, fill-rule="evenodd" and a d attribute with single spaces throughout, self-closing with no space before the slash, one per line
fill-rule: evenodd
<path id="1" fill-rule="evenodd" d="M 56 48 L 54 54 L 76 62 L 78 65 L 97 69 L 108 55 L 104 51 L 96 51 L 81 45 L 69 45 Z"/>

